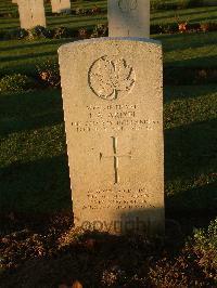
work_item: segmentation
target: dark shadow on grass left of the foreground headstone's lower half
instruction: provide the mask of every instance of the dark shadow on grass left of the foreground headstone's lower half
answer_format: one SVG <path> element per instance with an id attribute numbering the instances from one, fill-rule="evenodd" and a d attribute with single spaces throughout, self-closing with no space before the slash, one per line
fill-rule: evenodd
<path id="1" fill-rule="evenodd" d="M 1 212 L 56 213 L 72 209 L 66 155 L 0 169 Z"/>

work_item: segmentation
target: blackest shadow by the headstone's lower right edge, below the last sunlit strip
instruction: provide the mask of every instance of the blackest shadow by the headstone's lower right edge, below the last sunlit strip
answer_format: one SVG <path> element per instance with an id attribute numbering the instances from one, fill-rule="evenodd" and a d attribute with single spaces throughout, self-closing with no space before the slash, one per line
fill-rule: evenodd
<path id="1" fill-rule="evenodd" d="M 216 218 L 217 182 L 179 192 L 166 197 L 166 224 L 168 234 L 180 227 L 182 235 L 192 234 L 194 228 L 207 227 Z"/>

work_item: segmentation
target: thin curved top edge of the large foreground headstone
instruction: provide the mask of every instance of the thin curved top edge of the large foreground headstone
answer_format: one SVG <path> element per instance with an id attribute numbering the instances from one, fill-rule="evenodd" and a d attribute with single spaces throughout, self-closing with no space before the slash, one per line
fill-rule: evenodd
<path id="1" fill-rule="evenodd" d="M 61 50 L 67 49 L 71 45 L 80 45 L 80 44 L 91 44 L 97 42 L 105 42 L 105 41 L 128 41 L 128 42 L 142 42 L 142 43 L 150 43 L 162 47 L 162 42 L 158 40 L 150 39 L 150 38 L 139 38 L 139 37 L 100 37 L 100 38 L 92 38 L 86 40 L 78 40 L 74 42 L 69 42 L 67 44 L 63 44 L 59 48 L 58 52 L 60 53 Z"/>

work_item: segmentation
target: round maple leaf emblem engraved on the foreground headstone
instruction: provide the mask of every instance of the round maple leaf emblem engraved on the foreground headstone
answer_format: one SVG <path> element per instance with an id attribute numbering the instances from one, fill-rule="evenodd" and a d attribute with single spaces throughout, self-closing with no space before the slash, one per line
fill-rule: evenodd
<path id="1" fill-rule="evenodd" d="M 108 60 L 103 56 L 92 64 L 89 83 L 98 96 L 114 100 L 122 92 L 131 90 L 135 84 L 135 71 L 124 58 Z"/>

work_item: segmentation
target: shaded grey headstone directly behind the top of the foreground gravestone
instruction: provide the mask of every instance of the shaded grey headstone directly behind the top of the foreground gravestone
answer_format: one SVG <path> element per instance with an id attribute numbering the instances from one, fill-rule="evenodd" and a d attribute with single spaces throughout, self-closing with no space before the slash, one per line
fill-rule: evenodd
<path id="1" fill-rule="evenodd" d="M 150 0 L 108 0 L 110 37 L 150 37 Z"/>

